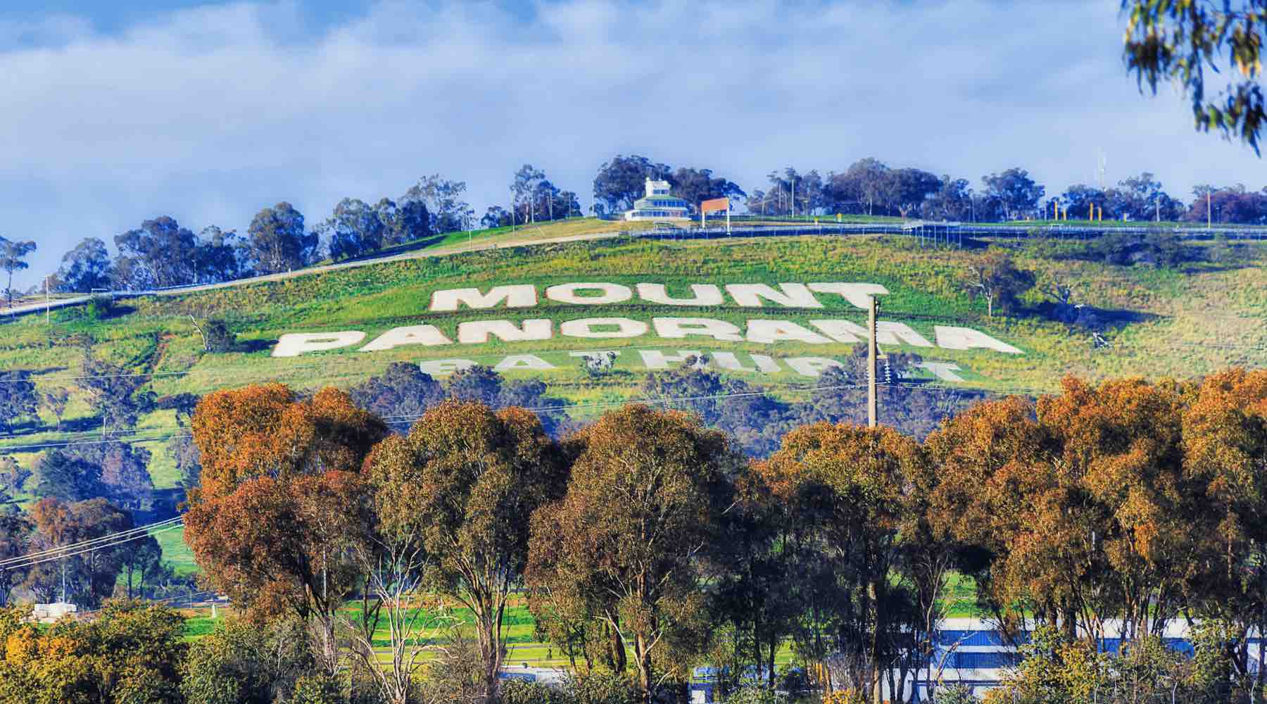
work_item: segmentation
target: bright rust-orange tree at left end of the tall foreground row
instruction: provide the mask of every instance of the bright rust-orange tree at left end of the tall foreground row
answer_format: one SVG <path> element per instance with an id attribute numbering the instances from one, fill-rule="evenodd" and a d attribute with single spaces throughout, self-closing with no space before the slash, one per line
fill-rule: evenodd
<path id="1" fill-rule="evenodd" d="M 191 427 L 203 463 L 185 515 L 195 560 L 252 617 L 307 619 L 334 672 L 336 610 L 357 589 L 370 523 L 360 468 L 386 427 L 342 391 L 296 400 L 277 384 L 208 394 Z"/>

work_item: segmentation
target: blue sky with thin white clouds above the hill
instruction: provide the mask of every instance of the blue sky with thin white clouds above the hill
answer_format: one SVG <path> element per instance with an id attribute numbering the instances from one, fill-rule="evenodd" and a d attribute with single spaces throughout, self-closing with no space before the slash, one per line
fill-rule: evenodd
<path id="1" fill-rule="evenodd" d="M 310 225 L 419 177 L 476 215 L 542 168 L 592 203 L 614 154 L 765 175 L 863 157 L 967 177 L 1028 168 L 1048 194 L 1140 171 L 1267 186 L 1199 134 L 1171 86 L 1140 94 L 1117 0 L 302 1 L 0 4 L 0 236 L 34 286 L 85 237 L 171 215 L 246 230 L 289 201 Z"/>

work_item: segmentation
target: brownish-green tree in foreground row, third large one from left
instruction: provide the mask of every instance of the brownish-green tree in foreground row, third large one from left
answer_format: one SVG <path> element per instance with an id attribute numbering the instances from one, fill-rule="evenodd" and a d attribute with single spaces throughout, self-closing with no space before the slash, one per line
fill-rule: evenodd
<path id="1" fill-rule="evenodd" d="M 650 701 L 704 646 L 703 553 L 720 539 L 741 460 L 692 417 L 642 405 L 603 415 L 569 446 L 568 494 L 533 519 L 530 584 L 588 604 L 632 650 Z"/>

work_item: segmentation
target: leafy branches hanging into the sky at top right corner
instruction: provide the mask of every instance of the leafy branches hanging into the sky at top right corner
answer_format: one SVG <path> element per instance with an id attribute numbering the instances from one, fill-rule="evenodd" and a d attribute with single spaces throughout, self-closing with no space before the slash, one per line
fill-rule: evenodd
<path id="1" fill-rule="evenodd" d="M 1267 41 L 1267 1 L 1121 0 L 1126 14 L 1126 68 L 1140 90 L 1177 82 L 1192 101 L 1196 129 L 1218 128 L 1258 153 L 1267 119 L 1262 90 L 1262 47 Z M 1218 97 L 1206 97 L 1206 68 L 1229 68 Z"/>

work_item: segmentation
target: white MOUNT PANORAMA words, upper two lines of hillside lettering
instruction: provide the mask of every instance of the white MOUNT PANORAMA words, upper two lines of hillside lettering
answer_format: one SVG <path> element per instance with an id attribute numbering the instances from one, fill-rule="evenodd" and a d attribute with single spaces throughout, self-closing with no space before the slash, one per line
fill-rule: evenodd
<path id="1" fill-rule="evenodd" d="M 644 303 L 656 305 L 721 306 L 726 304 L 725 295 L 729 295 L 734 304 L 741 308 L 763 308 L 767 304 L 772 304 L 801 309 L 803 311 L 805 309 L 824 308 L 822 301 L 815 294 L 839 295 L 855 308 L 867 310 L 872 296 L 887 294 L 888 291 L 878 284 L 779 284 L 778 289 L 765 284 L 726 284 L 723 295 L 721 286 L 692 284 L 691 298 L 673 298 L 668 294 L 664 284 L 636 284 L 631 289 L 620 284 L 583 282 L 550 286 L 545 290 L 545 298 L 568 305 L 614 305 L 631 300 L 635 292 Z M 533 308 L 537 303 L 537 289 L 530 284 L 494 286 L 488 292 L 481 292 L 479 289 L 447 289 L 436 291 L 432 295 L 431 310 L 435 313 L 451 313 L 462 306 L 473 310 L 488 310 L 497 306 Z M 734 323 L 712 318 L 655 317 L 651 318 L 650 324 L 631 318 L 579 318 L 561 322 L 557 325 L 557 334 L 579 339 L 628 339 L 642 337 L 654 329 L 655 334 L 663 339 L 697 338 L 761 344 L 780 342 L 806 344 L 856 343 L 863 342 L 868 336 L 867 328 L 851 320 L 821 319 L 810 320 L 808 324 L 810 328 L 791 320 L 751 319 L 741 329 Z M 877 323 L 875 333 L 875 341 L 881 344 L 940 347 L 943 349 L 981 348 L 1009 355 L 1022 353 L 1016 347 L 972 328 L 935 325 L 935 344 L 905 323 L 879 322 Z M 305 352 L 351 347 L 364 342 L 365 337 L 366 334 L 360 330 L 288 333 L 277 341 L 272 356 L 295 357 Z M 550 319 L 527 319 L 521 323 L 512 320 L 468 320 L 457 324 L 459 344 L 487 344 L 490 337 L 495 337 L 502 342 L 552 339 L 555 337 L 555 322 Z M 360 347 L 359 351 L 380 352 L 409 344 L 440 347 L 454 344 L 454 341 L 435 325 L 405 325 L 392 328 Z M 519 355 L 517 357 L 530 356 Z M 760 370 L 763 360 L 767 358 L 756 360 L 756 357 L 760 356 L 754 356 L 756 367 Z M 447 365 L 449 371 L 454 367 L 460 368 L 465 366 L 461 363 L 464 360 L 443 360 L 436 362 L 436 365 L 443 365 L 445 362 L 450 362 Z M 513 366 L 532 368 L 535 365 L 528 362 Z M 764 366 L 769 368 L 770 365 L 765 363 Z M 437 371 L 443 368 L 445 366 L 440 366 Z M 549 368 L 549 366 L 545 368 Z"/>

